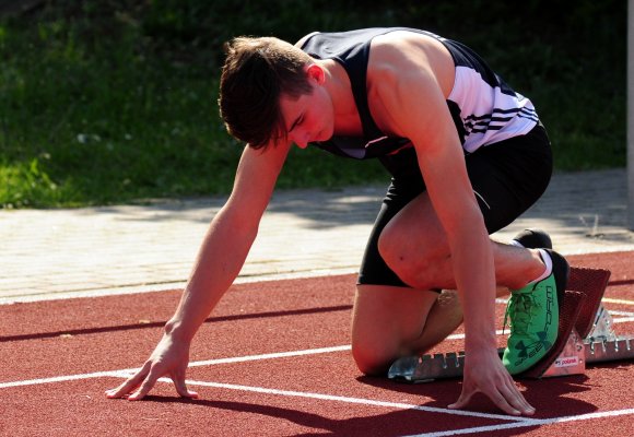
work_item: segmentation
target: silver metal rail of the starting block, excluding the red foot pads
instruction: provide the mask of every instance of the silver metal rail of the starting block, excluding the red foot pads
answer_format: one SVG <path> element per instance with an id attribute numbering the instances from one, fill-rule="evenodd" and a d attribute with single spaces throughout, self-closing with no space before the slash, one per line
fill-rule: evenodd
<path id="1" fill-rule="evenodd" d="M 591 269 L 584 269 L 584 273 L 588 272 L 591 274 Z M 600 292 L 599 299 L 603 295 L 607 279 L 602 281 L 602 290 L 596 291 Z M 612 317 L 603 306 L 599 305 L 591 329 L 579 328 L 585 329 L 586 332 L 589 330 L 588 335 L 580 339 L 577 329 L 573 328 L 556 358 L 538 377 L 579 375 L 585 373 L 588 364 L 633 359 L 634 335 L 617 335 L 612 326 Z M 503 349 L 498 350 L 501 358 L 503 352 Z M 412 383 L 430 382 L 437 379 L 459 378 L 462 376 L 465 352 L 407 356 L 397 359 L 391 365 L 388 378 Z"/>

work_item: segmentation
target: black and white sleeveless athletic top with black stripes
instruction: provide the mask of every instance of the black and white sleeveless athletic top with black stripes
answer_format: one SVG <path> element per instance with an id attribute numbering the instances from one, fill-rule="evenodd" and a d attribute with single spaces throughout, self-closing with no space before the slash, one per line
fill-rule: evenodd
<path id="1" fill-rule="evenodd" d="M 396 31 L 436 38 L 451 54 L 456 79 L 447 105 L 466 153 L 528 133 L 538 123 L 531 102 L 513 91 L 480 56 L 460 43 L 406 27 L 314 33 L 308 35 L 302 50 L 316 59 L 333 59 L 345 69 L 363 126 L 363 138 L 333 137 L 314 145 L 357 160 L 391 156 L 412 147 L 407 139 L 386 137 L 374 122 L 367 104 L 366 75 L 371 42 L 376 36 Z"/>

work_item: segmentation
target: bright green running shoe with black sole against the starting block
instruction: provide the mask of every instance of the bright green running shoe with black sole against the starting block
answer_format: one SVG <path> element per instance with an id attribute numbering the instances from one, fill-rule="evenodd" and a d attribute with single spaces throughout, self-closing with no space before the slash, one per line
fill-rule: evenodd
<path id="1" fill-rule="evenodd" d="M 504 326 L 510 320 L 510 335 L 502 362 L 512 375 L 528 370 L 553 346 L 559 330 L 560 308 L 570 267 L 559 253 L 544 249 L 552 259 L 552 273 L 544 280 L 513 291 Z"/>

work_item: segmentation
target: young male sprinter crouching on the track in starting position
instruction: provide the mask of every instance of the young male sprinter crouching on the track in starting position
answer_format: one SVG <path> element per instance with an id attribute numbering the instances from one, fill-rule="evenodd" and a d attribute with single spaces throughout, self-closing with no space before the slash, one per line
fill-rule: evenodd
<path id="1" fill-rule="evenodd" d="M 243 37 L 226 49 L 221 114 L 247 143 L 233 192 L 162 340 L 107 395 L 141 399 L 164 375 L 180 395 L 197 395 L 185 385 L 191 339 L 240 271 L 295 143 L 378 158 L 391 176 L 354 302 L 361 371 L 385 374 L 463 319 L 462 392 L 449 408 L 465 408 L 480 391 L 508 414 L 533 414 L 509 374 L 530 368 L 554 343 L 567 263 L 539 248 L 543 238 L 489 238 L 533 204 L 551 177 L 550 143 L 531 102 L 466 46 L 419 29 L 313 33 L 294 46 Z M 513 291 L 503 361 L 496 285 Z M 457 290 L 459 303 L 446 304 L 443 288 Z"/>

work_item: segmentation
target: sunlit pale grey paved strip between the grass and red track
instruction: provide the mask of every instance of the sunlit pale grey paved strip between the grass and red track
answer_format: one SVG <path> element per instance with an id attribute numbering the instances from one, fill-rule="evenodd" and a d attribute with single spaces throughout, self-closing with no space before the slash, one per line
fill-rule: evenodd
<path id="1" fill-rule="evenodd" d="M 625 169 L 557 174 L 496 233 L 541 227 L 565 255 L 634 250 Z M 355 272 L 384 186 L 278 191 L 238 281 Z M 0 211 L 0 304 L 183 287 L 224 198 Z"/>

